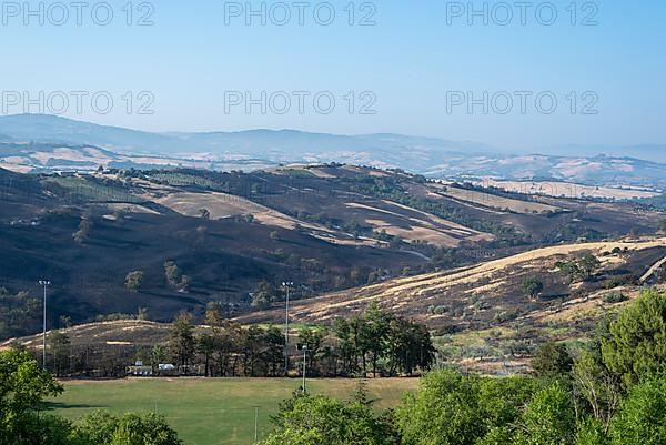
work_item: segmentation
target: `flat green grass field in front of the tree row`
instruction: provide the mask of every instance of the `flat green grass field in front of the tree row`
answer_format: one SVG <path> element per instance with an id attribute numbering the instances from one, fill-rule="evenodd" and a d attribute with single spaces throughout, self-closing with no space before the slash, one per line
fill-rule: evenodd
<path id="1" fill-rule="evenodd" d="M 254 443 L 255 408 L 258 436 L 270 433 L 270 416 L 279 403 L 300 387 L 301 381 L 285 378 L 174 378 L 64 382 L 64 393 L 52 403 L 53 413 L 75 419 L 94 409 L 114 414 L 153 412 L 163 414 L 188 445 L 243 445 Z M 354 380 L 312 380 L 313 394 L 349 398 L 357 387 Z M 415 378 L 370 380 L 367 391 L 375 407 L 384 409 L 416 388 Z M 286 445 L 286 444 L 285 444 Z"/>

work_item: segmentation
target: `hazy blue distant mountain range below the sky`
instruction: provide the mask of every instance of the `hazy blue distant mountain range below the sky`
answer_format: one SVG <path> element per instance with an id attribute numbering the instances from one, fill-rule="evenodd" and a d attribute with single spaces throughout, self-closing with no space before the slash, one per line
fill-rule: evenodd
<path id="1" fill-rule="evenodd" d="M 548 179 L 666 189 L 666 148 L 657 145 L 569 146 L 557 154 L 526 154 L 401 134 L 150 133 L 43 114 L 0 117 L 0 166 L 22 172 L 94 170 L 100 164 L 255 170 L 280 163 L 342 162 L 400 168 L 431 178 Z M 603 152 L 615 154 L 598 154 Z"/>

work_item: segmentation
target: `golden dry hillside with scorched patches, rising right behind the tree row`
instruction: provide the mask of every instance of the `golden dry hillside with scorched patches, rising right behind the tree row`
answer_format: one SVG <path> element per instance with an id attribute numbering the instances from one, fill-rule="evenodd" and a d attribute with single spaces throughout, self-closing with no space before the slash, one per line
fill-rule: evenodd
<path id="1" fill-rule="evenodd" d="M 583 254 L 599 260 L 584 282 L 572 283 L 557 262 Z M 522 283 L 538 277 L 544 291 L 531 297 Z M 645 285 L 666 289 L 666 239 L 564 244 L 501 260 L 293 302 L 292 323 L 333 326 L 377 304 L 424 322 L 443 356 L 486 374 L 529 370 L 546 342 L 586 342 L 599 322 L 636 299 Z M 245 314 L 242 324 L 280 323 L 284 309 Z"/>

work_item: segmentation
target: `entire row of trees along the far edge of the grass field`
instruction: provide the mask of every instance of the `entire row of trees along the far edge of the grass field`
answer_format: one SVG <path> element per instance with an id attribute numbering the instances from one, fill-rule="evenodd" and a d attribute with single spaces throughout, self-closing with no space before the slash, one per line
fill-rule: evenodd
<path id="1" fill-rule="evenodd" d="M 305 356 L 307 374 L 315 377 L 379 377 L 412 375 L 435 363 L 424 324 L 376 305 L 332 326 L 291 328 L 286 347 L 284 327 L 234 323 L 216 302 L 208 304 L 203 323 L 198 326 L 192 314 L 182 312 L 165 342 L 138 346 L 72 344 L 65 331 L 54 331 L 48 336 L 47 367 L 59 377 L 123 377 L 130 365 L 141 362 L 152 375 L 276 377 L 285 375 L 285 361 L 289 373 L 300 373 Z M 165 373 L 160 364 L 175 370 Z"/>

